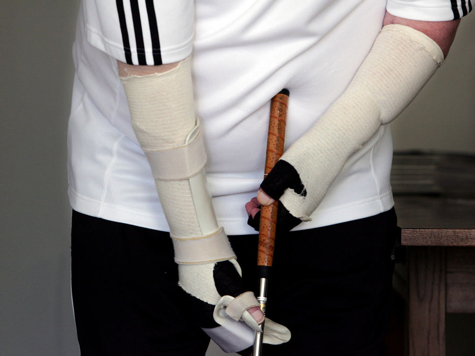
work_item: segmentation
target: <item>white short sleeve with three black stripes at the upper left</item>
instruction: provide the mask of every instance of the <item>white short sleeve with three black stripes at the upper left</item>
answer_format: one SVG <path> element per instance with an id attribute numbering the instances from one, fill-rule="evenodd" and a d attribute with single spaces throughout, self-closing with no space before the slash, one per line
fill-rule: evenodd
<path id="1" fill-rule="evenodd" d="M 193 0 L 84 0 L 87 41 L 134 65 L 178 62 L 192 52 Z"/>

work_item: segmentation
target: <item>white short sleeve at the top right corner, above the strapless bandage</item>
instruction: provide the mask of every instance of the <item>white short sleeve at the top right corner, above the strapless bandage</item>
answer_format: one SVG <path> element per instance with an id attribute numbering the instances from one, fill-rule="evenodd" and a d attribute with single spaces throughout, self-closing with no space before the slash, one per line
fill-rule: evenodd
<path id="1" fill-rule="evenodd" d="M 420 21 L 450 21 L 467 15 L 474 0 L 388 0 L 392 15 Z"/>

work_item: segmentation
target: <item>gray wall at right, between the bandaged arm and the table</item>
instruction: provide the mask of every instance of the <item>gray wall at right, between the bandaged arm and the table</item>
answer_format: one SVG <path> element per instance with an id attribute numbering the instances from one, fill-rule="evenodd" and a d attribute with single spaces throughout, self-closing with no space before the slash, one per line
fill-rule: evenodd
<path id="1" fill-rule="evenodd" d="M 475 16 L 462 19 L 442 67 L 392 124 L 395 150 L 475 154 Z"/>

